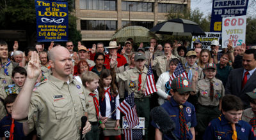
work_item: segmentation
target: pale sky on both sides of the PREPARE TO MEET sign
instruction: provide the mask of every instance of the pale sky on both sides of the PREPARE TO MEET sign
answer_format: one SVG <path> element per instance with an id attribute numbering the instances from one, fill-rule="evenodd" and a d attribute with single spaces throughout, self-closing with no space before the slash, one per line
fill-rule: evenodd
<path id="1" fill-rule="evenodd" d="M 249 0 L 247 15 L 256 17 L 256 1 Z M 195 10 L 199 8 L 200 11 L 204 13 L 204 15 L 208 15 L 212 11 L 212 0 L 191 0 L 191 10 Z"/>

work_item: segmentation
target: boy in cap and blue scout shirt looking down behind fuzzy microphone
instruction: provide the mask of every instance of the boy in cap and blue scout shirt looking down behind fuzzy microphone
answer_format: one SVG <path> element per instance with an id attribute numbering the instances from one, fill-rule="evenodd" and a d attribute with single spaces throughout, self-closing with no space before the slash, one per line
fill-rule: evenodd
<path id="1" fill-rule="evenodd" d="M 166 110 L 168 115 L 172 117 L 173 122 L 175 122 L 173 134 L 177 139 L 195 140 L 195 108 L 193 104 L 187 101 L 191 92 L 194 92 L 191 82 L 187 78 L 177 77 L 172 81 L 171 87 L 172 97 L 170 101 L 164 102 L 161 107 Z M 162 134 L 156 123 L 152 122 L 152 125 L 156 127 L 156 139 L 173 139 Z"/>

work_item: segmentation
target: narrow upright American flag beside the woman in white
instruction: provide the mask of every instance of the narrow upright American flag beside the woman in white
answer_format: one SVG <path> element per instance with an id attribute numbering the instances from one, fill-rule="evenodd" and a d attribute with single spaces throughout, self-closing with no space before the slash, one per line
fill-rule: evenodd
<path id="1" fill-rule="evenodd" d="M 146 85 L 145 95 L 150 95 L 150 94 L 152 94 L 154 92 L 157 92 L 156 82 L 154 80 L 154 75 L 152 73 L 151 64 L 149 64 L 148 73 L 147 73 L 147 85 Z"/>

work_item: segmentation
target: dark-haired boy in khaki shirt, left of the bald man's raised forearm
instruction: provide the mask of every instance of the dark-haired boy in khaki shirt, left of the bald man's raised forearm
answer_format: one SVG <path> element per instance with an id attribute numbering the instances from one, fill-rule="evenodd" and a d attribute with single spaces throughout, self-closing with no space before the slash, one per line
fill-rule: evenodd
<path id="1" fill-rule="evenodd" d="M 19 94 L 21 88 L 23 87 L 27 76 L 27 71 L 23 67 L 15 67 L 12 71 L 12 80 L 14 84 L 7 85 L 0 89 L 0 97 L 1 99 L 5 99 L 9 94 Z M 1 102 L 0 102 L 1 104 Z M 3 116 L 6 115 L 5 109 L 1 106 L 0 107 L 0 120 Z"/>

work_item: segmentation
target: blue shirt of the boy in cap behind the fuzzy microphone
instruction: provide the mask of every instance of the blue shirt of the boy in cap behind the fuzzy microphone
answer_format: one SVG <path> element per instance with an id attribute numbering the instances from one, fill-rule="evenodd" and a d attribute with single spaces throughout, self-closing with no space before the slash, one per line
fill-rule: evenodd
<path id="1" fill-rule="evenodd" d="M 186 120 L 186 127 L 187 127 L 187 139 L 192 139 L 192 133 L 190 132 L 191 127 L 196 126 L 196 111 L 190 102 L 185 102 L 183 104 L 184 106 L 184 115 Z M 175 136 L 180 139 L 180 123 L 179 123 L 179 104 L 174 101 L 173 97 L 171 98 L 170 102 L 164 102 L 164 104 L 161 105 L 161 107 L 166 110 L 169 116 L 172 117 L 173 122 L 175 122 L 175 130 L 173 130 L 173 133 Z M 157 128 L 156 123 L 152 122 L 152 125 Z M 163 134 L 163 139 L 172 140 L 171 137 L 166 136 Z"/>

